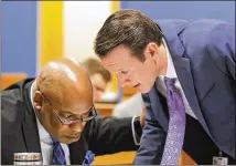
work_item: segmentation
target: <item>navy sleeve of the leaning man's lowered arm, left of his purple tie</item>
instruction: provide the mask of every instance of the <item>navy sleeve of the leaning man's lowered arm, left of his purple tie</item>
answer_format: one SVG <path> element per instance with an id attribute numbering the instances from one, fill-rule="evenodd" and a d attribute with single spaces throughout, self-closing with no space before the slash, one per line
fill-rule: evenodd
<path id="1" fill-rule="evenodd" d="M 137 152 L 133 164 L 158 165 L 161 163 L 167 133 L 159 122 L 153 120 L 153 111 L 148 94 L 142 97 L 147 108 L 146 124 L 142 131 L 141 145 Z"/>

